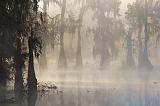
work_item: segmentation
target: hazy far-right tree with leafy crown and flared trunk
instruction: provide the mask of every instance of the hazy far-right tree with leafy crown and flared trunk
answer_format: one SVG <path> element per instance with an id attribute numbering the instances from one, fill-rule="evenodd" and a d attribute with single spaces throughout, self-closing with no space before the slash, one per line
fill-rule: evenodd
<path id="1" fill-rule="evenodd" d="M 149 5 L 148 5 L 149 4 Z M 134 2 L 132 5 L 128 5 L 127 19 L 132 21 L 134 24 L 135 31 L 138 31 L 138 42 L 139 42 L 139 50 L 138 50 L 138 67 L 142 69 L 153 69 L 153 65 L 151 64 L 148 56 L 148 43 L 151 36 L 151 32 L 157 33 L 159 29 L 156 21 L 156 15 L 154 7 L 156 6 L 157 1 L 153 0 L 144 0 Z M 150 22 L 149 19 L 150 18 Z M 142 36 L 142 32 L 144 29 L 144 40 Z M 152 33 L 153 34 L 153 33 Z"/>

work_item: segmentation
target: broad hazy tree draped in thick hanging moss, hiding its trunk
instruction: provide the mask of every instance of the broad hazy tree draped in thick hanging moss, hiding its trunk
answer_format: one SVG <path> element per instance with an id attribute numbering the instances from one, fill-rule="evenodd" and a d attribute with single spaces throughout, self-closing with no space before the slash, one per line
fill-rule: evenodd
<path id="1" fill-rule="evenodd" d="M 120 1 L 94 0 L 91 3 L 93 10 L 96 10 L 93 18 L 97 19 L 98 27 L 95 32 L 94 52 L 100 55 L 101 68 L 105 68 L 109 64 L 110 59 L 117 56 L 116 42 L 123 32 L 122 22 L 117 19 L 119 17 Z M 95 53 L 94 53 L 95 54 Z"/>

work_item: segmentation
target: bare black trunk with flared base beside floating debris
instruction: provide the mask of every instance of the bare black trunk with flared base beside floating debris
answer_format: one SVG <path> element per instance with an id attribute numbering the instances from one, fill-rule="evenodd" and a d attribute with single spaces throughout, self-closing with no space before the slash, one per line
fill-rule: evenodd
<path id="1" fill-rule="evenodd" d="M 29 64 L 28 64 L 27 85 L 28 85 L 28 90 L 33 91 L 37 90 L 37 78 L 35 75 L 34 56 L 33 56 L 33 32 L 31 32 L 31 36 L 29 37 L 28 47 L 29 47 Z"/>

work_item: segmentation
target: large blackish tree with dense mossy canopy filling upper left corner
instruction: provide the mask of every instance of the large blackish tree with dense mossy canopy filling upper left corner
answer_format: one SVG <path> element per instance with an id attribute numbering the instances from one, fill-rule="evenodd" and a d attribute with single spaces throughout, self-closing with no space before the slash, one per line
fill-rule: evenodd
<path id="1" fill-rule="evenodd" d="M 2 36 L 3 42 L 8 42 L 2 44 L 1 50 L 2 53 L 6 52 L 6 49 L 10 50 L 10 53 L 1 54 L 2 61 L 5 62 L 7 58 L 14 59 L 14 68 L 15 68 L 15 90 L 23 90 L 23 67 L 27 53 L 22 49 L 25 45 L 24 38 L 30 38 L 30 28 L 34 26 L 35 23 L 32 23 L 31 17 L 37 14 L 38 1 L 37 0 L 10 0 L 10 1 L 0 1 L 1 9 L 0 23 L 2 25 Z M 31 11 L 32 10 L 32 11 Z M 37 17 L 35 17 L 37 18 Z M 5 35 L 4 35 L 5 34 Z M 29 39 L 30 40 L 30 39 Z M 32 42 L 33 45 L 36 45 L 35 42 Z M 29 45 L 31 45 L 29 43 Z M 26 45 L 25 45 L 26 46 Z M 32 48 L 29 50 L 32 51 Z M 4 49 L 5 48 L 5 49 Z M 34 49 L 35 50 L 35 49 Z M 3 59 L 4 58 L 4 59 Z M 29 67 L 34 66 L 33 64 L 32 53 L 29 53 Z M 3 63 L 2 62 L 2 63 Z M 10 68 L 11 70 L 11 68 Z M 10 71 L 9 70 L 9 71 Z M 29 73 L 30 73 L 29 68 Z M 33 72 L 31 74 L 34 74 Z M 8 77 L 8 76 L 7 76 Z M 33 77 L 35 77 L 33 75 Z M 32 78 L 34 80 L 34 78 Z M 30 80 L 28 80 L 30 81 Z"/>

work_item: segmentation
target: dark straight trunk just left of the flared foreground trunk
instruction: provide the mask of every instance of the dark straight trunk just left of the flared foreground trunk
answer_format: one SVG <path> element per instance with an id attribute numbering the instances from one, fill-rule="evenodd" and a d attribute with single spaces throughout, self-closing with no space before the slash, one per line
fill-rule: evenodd
<path id="1" fill-rule="evenodd" d="M 22 57 L 22 50 L 21 50 L 21 39 L 17 38 L 17 52 L 14 58 L 15 61 L 15 69 L 16 69 L 16 73 L 15 73 L 15 90 L 19 91 L 19 90 L 23 90 L 24 86 L 23 86 L 23 65 L 24 65 L 24 61 L 23 61 L 23 57 Z"/>

